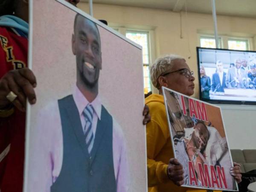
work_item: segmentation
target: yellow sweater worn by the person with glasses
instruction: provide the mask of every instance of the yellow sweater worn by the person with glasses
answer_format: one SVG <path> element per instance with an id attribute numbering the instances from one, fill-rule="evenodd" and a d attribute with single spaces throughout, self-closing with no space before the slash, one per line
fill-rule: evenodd
<path id="1" fill-rule="evenodd" d="M 151 122 L 146 125 L 148 192 L 206 192 L 179 187 L 169 180 L 167 166 L 174 155 L 163 96 L 152 94 L 145 99 L 145 104 L 151 116 Z"/>

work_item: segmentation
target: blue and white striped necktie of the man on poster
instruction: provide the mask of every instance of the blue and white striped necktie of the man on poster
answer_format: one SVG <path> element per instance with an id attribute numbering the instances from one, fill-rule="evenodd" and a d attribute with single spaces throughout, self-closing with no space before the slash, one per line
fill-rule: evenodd
<path id="1" fill-rule="evenodd" d="M 93 148 L 93 129 L 92 129 L 92 121 L 93 121 L 93 106 L 88 104 L 83 111 L 85 125 L 84 125 L 84 136 L 85 141 L 88 147 L 88 152 L 92 151 Z"/>

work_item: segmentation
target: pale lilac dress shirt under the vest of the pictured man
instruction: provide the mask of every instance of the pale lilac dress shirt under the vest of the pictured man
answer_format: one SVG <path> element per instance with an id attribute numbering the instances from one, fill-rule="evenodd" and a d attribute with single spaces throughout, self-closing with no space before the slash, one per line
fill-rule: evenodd
<path id="1" fill-rule="evenodd" d="M 84 127 L 83 110 L 89 103 L 78 87 L 73 91 L 81 125 Z M 99 95 L 90 103 L 93 105 L 93 136 L 97 121 L 100 119 L 102 103 Z M 48 105 L 38 115 L 33 154 L 29 162 L 29 192 L 50 192 L 50 186 L 61 172 L 63 158 L 63 138 L 58 102 Z M 93 137 L 94 140 L 95 137 Z M 32 144 L 30 144 L 32 145 Z M 33 147 L 32 147 L 33 148 Z M 74 157 L 76 158 L 76 157 Z M 117 192 L 127 192 L 129 187 L 129 169 L 126 158 L 125 138 L 121 127 L 113 118 L 113 166 Z"/>

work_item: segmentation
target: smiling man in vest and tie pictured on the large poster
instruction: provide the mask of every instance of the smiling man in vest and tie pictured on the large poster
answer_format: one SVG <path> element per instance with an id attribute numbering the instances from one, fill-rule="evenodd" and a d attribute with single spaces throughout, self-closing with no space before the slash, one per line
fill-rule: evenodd
<path id="1" fill-rule="evenodd" d="M 79 14 L 74 21 L 72 52 L 76 85 L 71 95 L 40 114 L 32 165 L 35 175 L 29 191 L 127 192 L 125 137 L 98 94 L 102 69 L 99 30 Z"/>

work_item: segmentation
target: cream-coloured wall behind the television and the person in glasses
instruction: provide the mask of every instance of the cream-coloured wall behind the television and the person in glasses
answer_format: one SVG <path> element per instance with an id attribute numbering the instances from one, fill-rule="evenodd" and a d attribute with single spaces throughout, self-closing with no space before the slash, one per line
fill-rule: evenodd
<path id="1" fill-rule="evenodd" d="M 79 8 L 89 12 L 87 3 L 79 3 Z M 168 53 L 183 55 L 195 72 L 198 70 L 195 48 L 199 46 L 198 33 L 214 33 L 212 15 L 207 14 L 187 13 L 186 17 L 184 12 L 103 4 L 93 4 L 93 14 L 97 19 L 107 20 L 110 26 L 154 30 L 154 57 Z M 250 37 L 253 39 L 252 48 L 256 49 L 256 19 L 217 15 L 217 21 L 220 35 Z M 195 74 L 194 97 L 198 98 L 199 85 Z M 256 149 L 256 107 L 221 105 L 221 108 L 230 148 Z"/>

